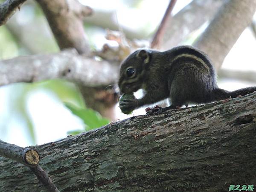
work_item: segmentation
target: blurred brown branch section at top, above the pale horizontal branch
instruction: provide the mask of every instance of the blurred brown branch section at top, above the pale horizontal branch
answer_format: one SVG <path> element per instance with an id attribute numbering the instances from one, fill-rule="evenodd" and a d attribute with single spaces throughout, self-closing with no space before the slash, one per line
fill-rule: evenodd
<path id="1" fill-rule="evenodd" d="M 75 48 L 80 54 L 90 51 L 84 33 L 83 17 L 92 9 L 78 0 L 37 0 L 47 17 L 60 49 Z"/>

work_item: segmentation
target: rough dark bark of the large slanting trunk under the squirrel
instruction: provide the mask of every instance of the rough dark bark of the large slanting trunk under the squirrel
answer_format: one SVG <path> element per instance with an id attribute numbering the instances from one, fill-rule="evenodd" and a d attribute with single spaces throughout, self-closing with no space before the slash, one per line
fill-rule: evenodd
<path id="1" fill-rule="evenodd" d="M 252 93 L 31 148 L 62 192 L 228 191 L 256 183 L 255 105 Z M 44 191 L 21 164 L 0 157 L 0 170 L 0 191 Z"/>

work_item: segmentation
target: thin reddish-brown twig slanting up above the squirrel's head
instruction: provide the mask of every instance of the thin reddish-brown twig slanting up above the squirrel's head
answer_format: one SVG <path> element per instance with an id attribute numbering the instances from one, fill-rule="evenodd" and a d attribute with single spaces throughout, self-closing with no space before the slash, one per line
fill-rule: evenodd
<path id="1" fill-rule="evenodd" d="M 174 8 L 176 2 L 177 2 L 177 0 L 170 0 L 170 3 L 166 9 L 164 16 L 163 16 L 163 19 L 162 19 L 162 21 L 157 29 L 157 32 L 155 33 L 154 38 L 151 42 L 151 48 L 159 48 L 160 47 L 160 45 L 162 43 L 162 37 L 163 37 L 164 31 L 166 29 L 166 24 L 169 20 L 168 16 L 171 14 L 172 9 Z"/>

